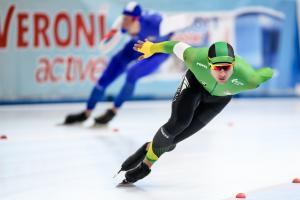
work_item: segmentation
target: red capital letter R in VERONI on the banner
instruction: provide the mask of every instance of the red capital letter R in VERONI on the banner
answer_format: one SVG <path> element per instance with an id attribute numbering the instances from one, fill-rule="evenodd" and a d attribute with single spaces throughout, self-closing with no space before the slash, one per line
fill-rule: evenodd
<path id="1" fill-rule="evenodd" d="M 40 46 L 39 38 L 42 38 L 43 43 L 46 47 L 50 46 L 49 37 L 47 30 L 49 28 L 49 17 L 44 13 L 34 14 L 34 47 Z M 42 24 L 41 24 L 42 23 Z"/>

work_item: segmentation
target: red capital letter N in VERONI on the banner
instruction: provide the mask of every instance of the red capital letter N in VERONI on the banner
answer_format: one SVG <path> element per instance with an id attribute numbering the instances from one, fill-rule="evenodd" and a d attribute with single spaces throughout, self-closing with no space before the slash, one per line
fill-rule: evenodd
<path id="1" fill-rule="evenodd" d="M 75 46 L 80 46 L 80 33 L 83 32 L 87 44 L 91 47 L 95 45 L 95 24 L 94 16 L 89 15 L 90 30 L 87 30 L 86 25 L 81 14 L 76 14 L 76 28 L 75 28 Z"/>

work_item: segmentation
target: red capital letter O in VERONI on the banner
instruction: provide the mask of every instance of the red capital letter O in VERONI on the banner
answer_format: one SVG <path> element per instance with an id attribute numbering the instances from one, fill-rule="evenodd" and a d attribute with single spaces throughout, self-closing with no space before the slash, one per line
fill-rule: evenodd
<path id="1" fill-rule="evenodd" d="M 66 38 L 61 38 L 59 25 L 61 22 L 66 23 Z M 72 35 L 72 27 L 71 27 L 71 19 L 66 13 L 59 13 L 54 21 L 54 39 L 56 44 L 60 47 L 68 47 L 71 44 L 71 35 Z"/>

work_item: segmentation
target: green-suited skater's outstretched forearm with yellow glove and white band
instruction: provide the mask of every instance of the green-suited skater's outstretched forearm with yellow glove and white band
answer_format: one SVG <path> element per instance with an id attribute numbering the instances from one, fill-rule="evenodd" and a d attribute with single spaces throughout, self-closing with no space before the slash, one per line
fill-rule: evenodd
<path id="1" fill-rule="evenodd" d="M 178 41 L 165 41 L 152 43 L 150 41 L 138 41 L 134 45 L 134 50 L 143 53 L 140 59 L 148 58 L 155 53 L 174 53 L 180 60 L 184 61 L 184 51 L 191 47 L 190 45 Z"/>

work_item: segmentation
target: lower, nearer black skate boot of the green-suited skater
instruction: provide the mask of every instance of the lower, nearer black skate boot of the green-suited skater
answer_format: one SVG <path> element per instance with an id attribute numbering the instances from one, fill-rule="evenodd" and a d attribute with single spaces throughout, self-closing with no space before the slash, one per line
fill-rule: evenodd
<path id="1" fill-rule="evenodd" d="M 129 170 L 125 174 L 125 180 L 128 183 L 134 183 L 144 177 L 146 177 L 148 174 L 150 174 L 151 169 L 144 163 L 141 162 L 136 168 Z"/>

